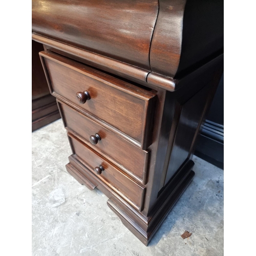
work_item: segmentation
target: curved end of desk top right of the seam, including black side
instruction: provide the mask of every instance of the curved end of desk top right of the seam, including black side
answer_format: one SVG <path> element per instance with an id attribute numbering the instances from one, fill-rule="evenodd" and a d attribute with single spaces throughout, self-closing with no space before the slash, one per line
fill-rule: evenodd
<path id="1" fill-rule="evenodd" d="M 159 0 L 150 65 L 179 79 L 223 53 L 223 0 Z"/>

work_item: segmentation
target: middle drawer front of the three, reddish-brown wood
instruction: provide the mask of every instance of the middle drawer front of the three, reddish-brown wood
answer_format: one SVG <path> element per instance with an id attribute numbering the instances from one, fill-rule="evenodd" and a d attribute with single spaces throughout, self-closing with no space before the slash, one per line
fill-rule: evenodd
<path id="1" fill-rule="evenodd" d="M 123 140 L 91 118 L 71 109 L 67 104 L 58 100 L 57 102 L 68 131 L 82 137 L 92 148 L 96 148 L 106 157 L 109 157 L 110 161 L 114 160 L 118 167 L 130 175 L 136 176 L 140 182 L 145 184 L 148 158 L 146 151 L 142 151 L 130 142 Z M 90 137 L 95 136 L 95 134 L 99 135 L 100 140 L 96 137 L 96 144 L 93 145 L 90 142 Z"/>

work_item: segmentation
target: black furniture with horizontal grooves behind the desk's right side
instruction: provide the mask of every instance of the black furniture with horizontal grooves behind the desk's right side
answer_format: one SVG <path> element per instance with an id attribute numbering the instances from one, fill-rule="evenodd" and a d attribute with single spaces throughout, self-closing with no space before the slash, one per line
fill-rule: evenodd
<path id="1" fill-rule="evenodd" d="M 195 155 L 222 168 L 224 162 L 224 76 L 206 115 Z"/>

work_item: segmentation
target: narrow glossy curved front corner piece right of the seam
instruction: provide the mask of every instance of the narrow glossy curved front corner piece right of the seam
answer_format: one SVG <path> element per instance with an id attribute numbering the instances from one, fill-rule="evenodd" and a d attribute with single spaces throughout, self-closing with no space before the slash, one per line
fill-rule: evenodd
<path id="1" fill-rule="evenodd" d="M 150 49 L 155 73 L 174 77 L 180 62 L 183 13 L 186 0 L 159 0 L 159 14 Z"/>

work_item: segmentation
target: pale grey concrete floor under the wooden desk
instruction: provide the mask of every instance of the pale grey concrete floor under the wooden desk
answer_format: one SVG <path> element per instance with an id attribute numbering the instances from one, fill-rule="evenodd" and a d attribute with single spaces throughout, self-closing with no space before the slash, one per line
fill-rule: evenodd
<path id="1" fill-rule="evenodd" d="M 32 255 L 223 255 L 223 170 L 194 157 L 196 175 L 144 246 L 98 189 L 66 171 L 71 149 L 62 121 L 32 133 Z M 181 234 L 193 233 L 183 240 Z"/>

